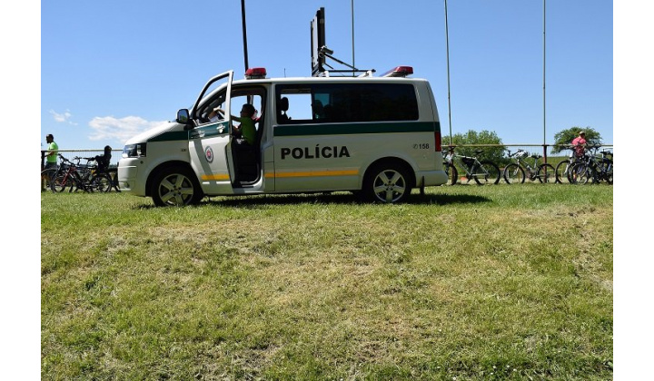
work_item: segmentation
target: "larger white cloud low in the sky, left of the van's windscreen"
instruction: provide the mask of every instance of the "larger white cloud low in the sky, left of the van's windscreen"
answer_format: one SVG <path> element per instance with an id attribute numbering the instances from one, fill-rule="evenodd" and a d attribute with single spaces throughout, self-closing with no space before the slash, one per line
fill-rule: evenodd
<path id="1" fill-rule="evenodd" d="M 138 116 L 126 116 L 121 119 L 113 116 L 95 117 L 89 122 L 93 133 L 89 135 L 92 141 L 127 142 L 138 133 L 150 130 L 166 121 L 149 122 Z"/>

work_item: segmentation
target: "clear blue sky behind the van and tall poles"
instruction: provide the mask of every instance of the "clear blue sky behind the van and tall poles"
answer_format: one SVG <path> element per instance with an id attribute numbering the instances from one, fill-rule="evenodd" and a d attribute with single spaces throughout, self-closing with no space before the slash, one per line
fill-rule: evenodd
<path id="1" fill-rule="evenodd" d="M 352 31 L 353 3 L 353 31 Z M 543 142 L 543 2 L 246 0 L 248 60 L 269 77 L 310 76 L 310 21 L 325 8 L 334 56 L 383 73 L 411 65 L 430 81 L 441 126 Z M 546 3 L 545 138 L 590 126 L 613 142 L 613 3 Z M 352 57 L 352 32 L 354 57 Z M 343 66 L 332 63 L 336 69 Z M 172 120 L 214 74 L 243 77 L 241 2 L 41 3 L 41 144 L 119 149 Z"/>

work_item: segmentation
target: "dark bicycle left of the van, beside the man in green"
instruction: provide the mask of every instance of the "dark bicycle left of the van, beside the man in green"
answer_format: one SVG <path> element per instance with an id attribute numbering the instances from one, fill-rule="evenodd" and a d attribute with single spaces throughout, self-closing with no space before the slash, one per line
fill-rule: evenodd
<path id="1" fill-rule="evenodd" d="M 69 161 L 62 154 L 59 154 L 62 161 L 60 170 L 56 172 L 54 181 L 50 183 L 50 189 L 53 192 L 62 192 L 68 188 L 69 192 L 84 190 L 85 192 L 109 191 L 111 189 L 111 178 L 106 173 L 94 171 L 94 165 L 89 163 L 93 158 L 74 157 L 74 161 Z M 87 164 L 80 168 L 79 161 L 85 159 Z"/>

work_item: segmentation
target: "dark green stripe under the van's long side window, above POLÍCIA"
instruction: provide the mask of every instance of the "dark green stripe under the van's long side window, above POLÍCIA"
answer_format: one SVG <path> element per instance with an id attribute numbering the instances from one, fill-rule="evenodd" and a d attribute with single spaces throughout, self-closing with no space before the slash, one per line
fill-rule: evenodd
<path id="1" fill-rule="evenodd" d="M 274 136 L 352 135 L 355 133 L 434 132 L 439 122 L 358 122 L 332 124 L 287 124 L 274 126 Z"/>

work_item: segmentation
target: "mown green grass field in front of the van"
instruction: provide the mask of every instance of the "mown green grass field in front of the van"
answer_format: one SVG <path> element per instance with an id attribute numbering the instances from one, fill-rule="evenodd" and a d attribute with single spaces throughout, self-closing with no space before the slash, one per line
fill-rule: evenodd
<path id="1" fill-rule="evenodd" d="M 613 376 L 613 188 L 41 193 L 43 379 Z"/>

